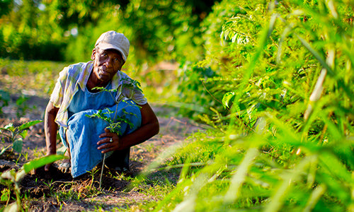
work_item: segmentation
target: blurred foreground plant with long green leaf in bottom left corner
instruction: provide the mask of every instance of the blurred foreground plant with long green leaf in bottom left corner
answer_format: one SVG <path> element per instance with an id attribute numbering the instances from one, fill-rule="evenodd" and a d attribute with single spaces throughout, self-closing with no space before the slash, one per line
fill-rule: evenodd
<path id="1" fill-rule="evenodd" d="M 25 163 L 20 170 L 8 170 L 6 172 L 2 172 L 0 175 L 0 183 L 4 184 L 8 187 L 10 191 L 13 191 L 16 194 L 16 202 L 13 204 L 7 206 L 8 201 L 10 200 L 10 192 L 6 193 L 8 194 L 7 203 L 6 207 L 3 208 L 4 210 L 8 211 L 23 211 L 22 205 L 21 205 L 21 191 L 20 191 L 20 183 L 25 177 L 26 174 L 28 174 L 30 171 L 35 170 L 39 167 L 42 167 L 43 165 L 46 165 L 48 163 L 53 163 L 56 160 L 62 160 L 64 159 L 64 155 L 49 155 L 43 158 L 39 158 L 36 160 L 32 160 L 28 163 Z M 1 196 L 2 198 L 3 196 Z"/>

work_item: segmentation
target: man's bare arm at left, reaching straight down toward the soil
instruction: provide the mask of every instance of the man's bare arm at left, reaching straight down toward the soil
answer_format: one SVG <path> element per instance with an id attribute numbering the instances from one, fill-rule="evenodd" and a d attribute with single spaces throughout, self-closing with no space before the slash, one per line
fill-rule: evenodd
<path id="1" fill-rule="evenodd" d="M 47 155 L 55 155 L 57 153 L 57 129 L 58 124 L 55 123 L 59 108 L 54 107 L 49 102 L 45 110 L 45 144 L 47 145 Z M 50 165 L 45 165 L 45 170 L 49 170 Z"/>

